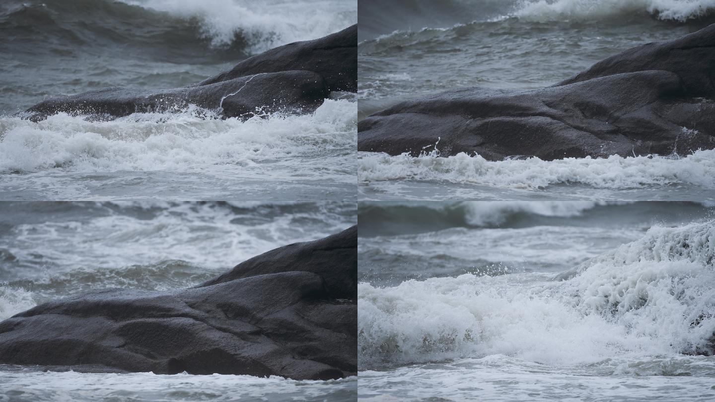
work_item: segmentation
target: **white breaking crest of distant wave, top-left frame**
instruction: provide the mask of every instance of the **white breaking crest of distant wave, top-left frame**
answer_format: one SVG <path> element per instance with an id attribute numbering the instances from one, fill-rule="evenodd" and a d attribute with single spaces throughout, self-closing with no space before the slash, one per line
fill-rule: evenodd
<path id="1" fill-rule="evenodd" d="M 252 52 L 293 41 L 317 39 L 358 22 L 354 0 L 123 0 L 201 21 L 214 46 L 231 44 L 242 34 Z"/>

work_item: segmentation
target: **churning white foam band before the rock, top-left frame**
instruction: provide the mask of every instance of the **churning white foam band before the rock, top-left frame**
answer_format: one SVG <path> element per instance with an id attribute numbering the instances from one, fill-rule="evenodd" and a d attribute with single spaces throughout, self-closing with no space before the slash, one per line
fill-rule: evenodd
<path id="1" fill-rule="evenodd" d="M 132 114 L 111 122 L 87 122 L 67 114 L 38 123 L 0 117 L 0 172 L 207 172 L 220 167 L 228 174 L 282 158 L 344 155 L 345 149 L 355 147 L 355 119 L 355 103 L 344 99 L 327 99 L 313 114 L 274 114 L 245 122 L 205 119 L 195 109 Z M 320 172 L 303 163 L 292 166 L 291 172 L 275 173 L 342 176 L 343 164 L 355 160 L 354 155 L 342 159 L 337 166 L 320 166 Z"/>

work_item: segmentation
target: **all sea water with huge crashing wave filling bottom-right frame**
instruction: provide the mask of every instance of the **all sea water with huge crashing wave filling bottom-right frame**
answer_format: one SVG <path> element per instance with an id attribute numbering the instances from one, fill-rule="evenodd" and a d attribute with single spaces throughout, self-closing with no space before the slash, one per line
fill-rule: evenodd
<path id="1" fill-rule="evenodd" d="M 361 401 L 712 401 L 715 210 L 365 202 Z"/>

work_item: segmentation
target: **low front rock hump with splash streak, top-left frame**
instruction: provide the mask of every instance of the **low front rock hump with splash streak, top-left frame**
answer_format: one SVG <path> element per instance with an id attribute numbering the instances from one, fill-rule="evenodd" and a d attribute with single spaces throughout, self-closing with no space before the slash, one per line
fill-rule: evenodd
<path id="1" fill-rule="evenodd" d="M 251 117 L 279 110 L 314 112 L 328 94 L 320 75 L 286 71 L 240 77 L 202 87 L 157 91 L 119 87 L 97 89 L 71 97 L 47 99 L 27 109 L 25 117 L 39 121 L 66 112 L 114 118 L 138 112 L 171 112 L 189 104 L 222 110 L 226 117 Z"/>

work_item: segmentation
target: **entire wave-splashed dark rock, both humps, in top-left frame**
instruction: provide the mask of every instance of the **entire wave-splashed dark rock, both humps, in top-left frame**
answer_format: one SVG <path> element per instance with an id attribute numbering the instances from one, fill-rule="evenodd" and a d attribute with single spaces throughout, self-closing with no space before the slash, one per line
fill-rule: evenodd
<path id="1" fill-rule="evenodd" d="M 279 46 L 189 87 L 97 89 L 46 99 L 22 112 L 21 117 L 36 122 L 64 112 L 113 119 L 137 112 L 171 112 L 189 104 L 217 110 L 225 117 L 278 111 L 310 113 L 330 92 L 357 91 L 357 46 L 354 25 L 320 39 Z"/>

